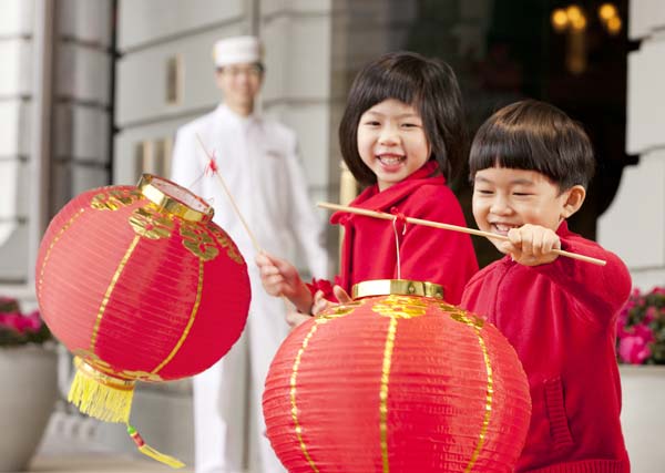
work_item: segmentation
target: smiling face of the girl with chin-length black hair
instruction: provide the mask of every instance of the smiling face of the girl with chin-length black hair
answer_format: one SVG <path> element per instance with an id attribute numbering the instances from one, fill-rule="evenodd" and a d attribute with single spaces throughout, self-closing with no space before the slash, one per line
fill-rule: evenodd
<path id="1" fill-rule="evenodd" d="M 358 123 L 358 154 L 377 175 L 379 191 L 403 181 L 430 157 L 422 119 L 395 99 L 368 109 Z"/>

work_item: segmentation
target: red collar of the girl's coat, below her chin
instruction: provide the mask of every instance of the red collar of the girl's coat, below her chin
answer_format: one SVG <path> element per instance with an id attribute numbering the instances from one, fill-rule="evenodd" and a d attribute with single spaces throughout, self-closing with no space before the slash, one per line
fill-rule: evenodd
<path id="1" fill-rule="evenodd" d="M 406 179 L 388 187 L 385 191 L 379 191 L 379 186 L 374 184 L 362 191 L 358 197 L 351 202 L 352 207 L 366 208 L 370 210 L 387 212 L 408 195 L 416 192 L 422 185 L 446 185 L 446 177 L 441 174 L 439 165 L 436 161 L 428 161 L 422 167 L 413 172 Z M 330 217 L 331 224 L 338 224 L 347 216 L 345 222 L 352 214 L 340 210 L 332 214 Z"/>

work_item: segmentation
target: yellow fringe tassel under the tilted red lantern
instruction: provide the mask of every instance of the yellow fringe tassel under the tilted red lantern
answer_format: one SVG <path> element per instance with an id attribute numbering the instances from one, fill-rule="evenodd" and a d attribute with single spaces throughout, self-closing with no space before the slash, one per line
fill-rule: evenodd
<path id="1" fill-rule="evenodd" d="M 76 374 L 68 401 L 81 412 L 102 421 L 129 422 L 135 382 L 102 373 L 78 357 L 74 363 Z"/>

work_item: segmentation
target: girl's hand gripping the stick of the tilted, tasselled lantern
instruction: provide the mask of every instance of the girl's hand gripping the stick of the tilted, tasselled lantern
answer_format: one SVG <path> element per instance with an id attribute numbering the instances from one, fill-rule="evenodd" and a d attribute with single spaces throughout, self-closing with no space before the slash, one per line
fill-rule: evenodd
<path id="1" fill-rule="evenodd" d="M 311 308 L 311 294 L 294 265 L 260 251 L 256 255 L 260 282 L 270 296 L 286 297 L 301 312 L 309 312 Z"/>

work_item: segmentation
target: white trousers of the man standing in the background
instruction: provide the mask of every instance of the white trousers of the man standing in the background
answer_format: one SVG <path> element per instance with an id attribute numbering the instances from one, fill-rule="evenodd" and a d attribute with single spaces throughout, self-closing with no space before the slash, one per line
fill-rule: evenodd
<path id="1" fill-rule="evenodd" d="M 282 299 L 265 294 L 260 282 L 253 285 L 243 336 L 222 360 L 194 377 L 196 473 L 285 471 L 265 436 L 262 410 L 268 367 L 288 333 L 284 313 Z"/>

